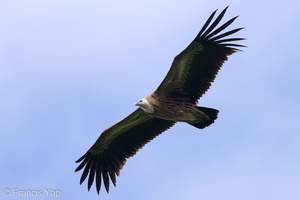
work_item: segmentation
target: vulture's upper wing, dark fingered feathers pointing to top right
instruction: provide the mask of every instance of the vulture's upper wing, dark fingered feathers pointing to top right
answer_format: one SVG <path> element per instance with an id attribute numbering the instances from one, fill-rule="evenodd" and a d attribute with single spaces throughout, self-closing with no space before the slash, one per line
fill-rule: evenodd
<path id="1" fill-rule="evenodd" d="M 214 11 L 191 44 L 174 58 L 168 74 L 156 90 L 157 95 L 186 98 L 191 103 L 197 103 L 209 89 L 227 57 L 239 51 L 238 47 L 244 47 L 231 43 L 244 38 L 225 38 L 242 28 L 220 34 L 237 16 L 216 28 L 227 8 L 212 22 L 217 10 Z"/>

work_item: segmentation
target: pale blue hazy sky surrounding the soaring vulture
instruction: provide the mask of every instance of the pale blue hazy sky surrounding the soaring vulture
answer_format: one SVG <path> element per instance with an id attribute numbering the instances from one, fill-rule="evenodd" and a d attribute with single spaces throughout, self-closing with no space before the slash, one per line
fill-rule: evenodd
<path id="1" fill-rule="evenodd" d="M 130 158 L 110 193 L 75 160 L 156 89 L 215 10 L 247 40 L 200 105 Z M 0 2 L 0 198 L 300 199 L 299 1 Z M 23 195 L 22 195 L 23 194 Z"/>

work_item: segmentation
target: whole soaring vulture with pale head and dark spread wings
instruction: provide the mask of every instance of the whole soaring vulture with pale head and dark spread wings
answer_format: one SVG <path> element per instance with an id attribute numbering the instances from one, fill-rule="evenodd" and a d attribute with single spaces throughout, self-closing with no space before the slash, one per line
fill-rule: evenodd
<path id="1" fill-rule="evenodd" d="M 217 10 L 210 15 L 195 39 L 174 58 L 158 88 L 136 102 L 134 112 L 105 129 L 76 161 L 80 164 L 75 172 L 83 169 L 80 184 L 87 179 L 90 190 L 95 181 L 98 194 L 101 185 L 108 193 L 110 182 L 116 186 L 116 176 L 126 160 L 176 122 L 203 129 L 217 119 L 219 111 L 198 106 L 198 99 L 209 89 L 228 56 L 245 47 L 232 43 L 244 38 L 227 37 L 242 28 L 224 31 L 238 16 L 219 25 L 227 8 L 215 19 Z"/>

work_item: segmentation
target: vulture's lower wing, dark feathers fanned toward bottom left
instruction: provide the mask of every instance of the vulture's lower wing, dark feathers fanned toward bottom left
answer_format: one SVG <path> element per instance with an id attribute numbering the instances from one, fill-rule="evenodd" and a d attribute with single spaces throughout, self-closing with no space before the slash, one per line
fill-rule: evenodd
<path id="1" fill-rule="evenodd" d="M 116 175 L 126 163 L 147 142 L 175 124 L 149 117 L 138 108 L 123 120 L 103 131 L 95 144 L 76 162 L 80 165 L 75 172 L 84 169 L 80 184 L 88 177 L 88 190 L 96 180 L 99 194 L 103 181 L 109 191 L 109 180 L 116 186 Z"/>

